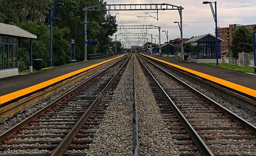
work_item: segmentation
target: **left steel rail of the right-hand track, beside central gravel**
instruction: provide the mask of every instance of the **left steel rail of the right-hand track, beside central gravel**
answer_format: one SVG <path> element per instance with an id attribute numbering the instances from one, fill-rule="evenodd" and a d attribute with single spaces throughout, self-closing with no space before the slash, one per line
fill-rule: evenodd
<path id="1" fill-rule="evenodd" d="M 142 56 L 141 56 L 142 57 Z M 139 57 L 138 57 L 139 58 Z M 144 58 L 144 57 L 143 57 Z M 161 87 L 161 85 L 157 82 L 157 80 L 154 78 L 154 76 L 151 74 L 151 72 L 149 71 L 149 69 L 145 66 L 145 64 L 141 61 L 141 59 L 139 58 L 141 64 L 143 65 L 143 67 L 146 69 L 146 72 L 150 75 L 150 77 L 152 78 L 152 80 L 154 81 L 154 83 L 156 84 L 156 86 L 158 87 L 158 89 L 161 91 L 161 93 L 163 94 L 165 100 L 168 102 L 169 106 L 172 108 L 172 110 L 174 111 L 174 113 L 177 115 L 177 117 L 179 118 L 180 122 L 182 123 L 182 125 L 184 126 L 184 128 L 187 130 L 187 132 L 189 133 L 190 137 L 193 139 L 193 141 L 195 142 L 195 145 L 198 147 L 199 151 L 204 155 L 204 156 L 214 156 L 214 154 L 210 151 L 210 149 L 208 148 L 208 146 L 204 143 L 204 141 L 202 140 L 202 138 L 199 136 L 199 134 L 197 134 L 197 132 L 195 131 L 195 129 L 191 126 L 191 124 L 189 124 L 189 121 L 187 121 L 187 119 L 184 117 L 184 115 L 180 112 L 180 110 L 178 109 L 178 107 L 174 104 L 174 102 L 170 99 L 170 97 L 167 95 L 167 93 L 164 91 L 164 89 Z M 147 59 L 146 59 L 147 60 Z M 149 60 L 147 60 L 149 61 Z M 150 62 L 150 61 L 149 61 Z M 150 62 L 152 63 L 152 62 Z M 154 64 L 153 64 L 154 65 Z"/>

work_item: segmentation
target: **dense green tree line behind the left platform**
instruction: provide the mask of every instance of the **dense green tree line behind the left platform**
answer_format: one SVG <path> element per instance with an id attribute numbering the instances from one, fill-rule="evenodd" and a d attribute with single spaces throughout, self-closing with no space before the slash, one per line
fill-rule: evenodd
<path id="1" fill-rule="evenodd" d="M 37 35 L 33 39 L 32 58 L 43 59 L 43 67 L 49 67 L 50 61 L 50 3 L 56 0 L 0 0 L 0 22 L 19 26 L 20 28 Z M 69 63 L 71 39 L 75 40 L 76 60 L 84 60 L 84 30 L 85 7 L 104 4 L 103 0 L 61 0 L 64 6 L 56 8 L 52 28 L 52 65 L 59 66 Z M 89 11 L 87 22 L 88 41 L 100 38 L 98 45 L 87 46 L 87 56 L 100 51 L 111 52 L 115 42 L 111 36 L 117 32 L 115 16 L 106 11 Z M 18 69 L 28 69 L 29 39 L 18 40 Z M 121 44 L 118 43 L 118 49 Z"/>

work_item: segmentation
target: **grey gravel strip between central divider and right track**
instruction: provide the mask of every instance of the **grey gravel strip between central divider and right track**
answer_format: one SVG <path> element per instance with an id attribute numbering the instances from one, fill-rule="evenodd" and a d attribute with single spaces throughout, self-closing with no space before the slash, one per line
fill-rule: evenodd
<path id="1" fill-rule="evenodd" d="M 139 155 L 179 156 L 171 132 L 154 100 L 139 62 L 135 61 L 137 111 L 139 122 Z"/>

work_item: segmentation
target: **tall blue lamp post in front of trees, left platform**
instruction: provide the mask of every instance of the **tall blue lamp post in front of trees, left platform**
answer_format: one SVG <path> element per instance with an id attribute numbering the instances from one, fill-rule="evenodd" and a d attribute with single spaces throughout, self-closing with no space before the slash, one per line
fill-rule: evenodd
<path id="1" fill-rule="evenodd" d="M 53 13 L 52 13 L 52 3 L 50 4 L 50 67 L 52 67 L 52 22 L 54 15 L 56 13 L 56 8 L 58 5 L 64 5 L 64 3 L 54 3 L 53 4 Z"/>

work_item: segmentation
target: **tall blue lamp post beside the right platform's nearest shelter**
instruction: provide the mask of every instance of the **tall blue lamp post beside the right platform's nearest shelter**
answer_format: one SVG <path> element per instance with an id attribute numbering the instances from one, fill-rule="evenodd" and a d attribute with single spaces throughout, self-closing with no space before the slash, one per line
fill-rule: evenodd
<path id="1" fill-rule="evenodd" d="M 215 12 L 213 10 L 213 5 L 212 3 L 215 3 Z M 212 10 L 213 13 L 213 18 L 215 21 L 215 49 L 216 49 L 216 66 L 219 65 L 219 44 L 218 44 L 218 29 L 217 29 L 217 2 L 208 2 L 204 1 L 203 4 L 210 4 L 210 9 Z"/>

